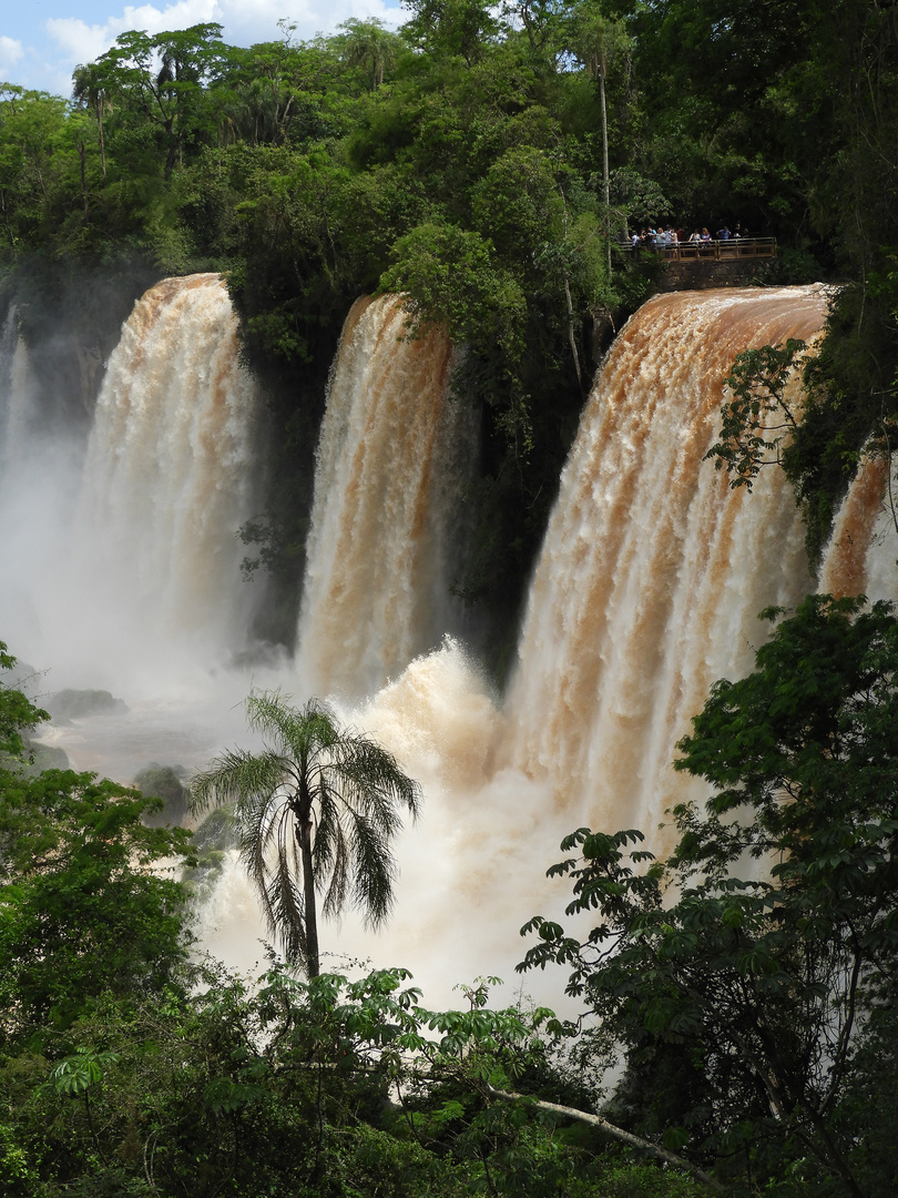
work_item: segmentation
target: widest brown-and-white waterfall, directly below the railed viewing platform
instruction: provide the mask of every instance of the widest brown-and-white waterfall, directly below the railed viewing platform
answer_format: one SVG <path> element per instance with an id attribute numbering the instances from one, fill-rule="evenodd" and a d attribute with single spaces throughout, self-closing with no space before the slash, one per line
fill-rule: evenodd
<path id="1" fill-rule="evenodd" d="M 763 607 L 813 588 L 782 471 L 750 495 L 703 459 L 736 353 L 812 338 L 825 307 L 813 286 L 662 295 L 614 343 L 533 580 L 504 745 L 575 823 L 657 824 L 710 684 L 751 668 Z"/>

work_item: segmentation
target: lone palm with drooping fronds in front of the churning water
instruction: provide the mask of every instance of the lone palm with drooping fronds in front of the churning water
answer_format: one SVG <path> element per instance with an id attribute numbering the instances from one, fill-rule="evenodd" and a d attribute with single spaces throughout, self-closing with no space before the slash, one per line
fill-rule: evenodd
<path id="1" fill-rule="evenodd" d="M 250 695 L 250 728 L 263 749 L 230 750 L 190 783 L 190 807 L 233 801 L 239 853 L 259 890 L 271 933 L 287 961 L 320 972 L 316 891 L 323 915 L 347 898 L 376 926 L 393 907 L 390 840 L 396 807 L 417 818 L 418 783 L 370 737 L 340 728 L 316 698 L 297 710 L 279 691 Z"/>

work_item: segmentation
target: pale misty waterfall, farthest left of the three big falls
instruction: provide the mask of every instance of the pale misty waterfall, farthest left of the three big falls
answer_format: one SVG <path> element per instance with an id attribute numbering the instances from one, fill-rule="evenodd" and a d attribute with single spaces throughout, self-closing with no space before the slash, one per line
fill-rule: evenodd
<path id="1" fill-rule="evenodd" d="M 109 362 L 75 538 L 103 577 L 103 636 L 218 664 L 245 645 L 237 530 L 254 514 L 257 398 L 217 274 L 165 279 Z M 103 530 L 97 537 L 97 530 Z"/>

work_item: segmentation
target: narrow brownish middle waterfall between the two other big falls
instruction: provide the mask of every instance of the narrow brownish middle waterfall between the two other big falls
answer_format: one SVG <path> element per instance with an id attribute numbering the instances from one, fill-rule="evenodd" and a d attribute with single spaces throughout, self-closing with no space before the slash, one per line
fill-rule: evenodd
<path id="1" fill-rule="evenodd" d="M 462 622 L 450 587 L 473 411 L 449 397 L 445 333 L 407 340 L 405 325 L 395 296 L 357 301 L 330 379 L 299 617 L 299 676 L 317 692 L 374 694 Z"/>

